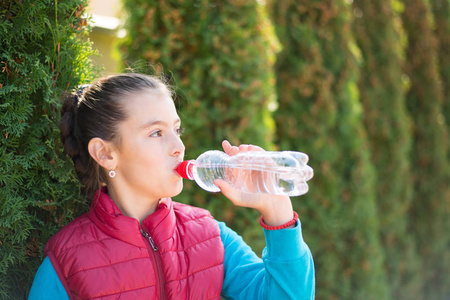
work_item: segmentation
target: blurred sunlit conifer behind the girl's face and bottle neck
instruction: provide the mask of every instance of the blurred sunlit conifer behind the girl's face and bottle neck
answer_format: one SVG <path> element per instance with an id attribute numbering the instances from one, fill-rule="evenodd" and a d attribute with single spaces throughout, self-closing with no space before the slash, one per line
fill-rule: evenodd
<path id="1" fill-rule="evenodd" d="M 186 158 L 221 150 L 223 139 L 270 149 L 275 44 L 262 4 L 127 0 L 124 7 L 129 14 L 122 45 L 125 64 L 144 60 L 172 78 L 182 99 Z M 259 247 L 253 246 L 261 250 L 264 237 L 253 210 L 236 209 L 223 196 L 187 181 L 176 200 L 208 208 L 249 242 L 259 235 Z"/>

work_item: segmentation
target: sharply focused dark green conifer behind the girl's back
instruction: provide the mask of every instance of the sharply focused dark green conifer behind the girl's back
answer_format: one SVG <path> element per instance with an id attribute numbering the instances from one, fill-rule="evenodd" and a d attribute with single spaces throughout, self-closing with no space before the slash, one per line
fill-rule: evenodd
<path id="1" fill-rule="evenodd" d="M 47 240 L 85 206 L 60 97 L 91 78 L 84 0 L 0 1 L 0 299 L 24 299 Z"/>

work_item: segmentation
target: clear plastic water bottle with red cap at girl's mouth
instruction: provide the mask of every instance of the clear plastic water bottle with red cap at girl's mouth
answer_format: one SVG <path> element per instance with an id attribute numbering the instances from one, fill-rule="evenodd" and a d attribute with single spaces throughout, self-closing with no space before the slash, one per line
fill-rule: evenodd
<path id="1" fill-rule="evenodd" d="M 308 155 L 294 151 L 247 151 L 229 156 L 211 150 L 196 160 L 183 161 L 176 170 L 210 192 L 219 192 L 213 181 L 223 179 L 244 192 L 299 196 L 308 192 L 306 181 L 313 177 L 307 162 Z"/>

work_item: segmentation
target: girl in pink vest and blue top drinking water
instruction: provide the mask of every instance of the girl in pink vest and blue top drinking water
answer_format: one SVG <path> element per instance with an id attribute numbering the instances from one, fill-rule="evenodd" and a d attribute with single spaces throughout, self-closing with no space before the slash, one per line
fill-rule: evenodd
<path id="1" fill-rule="evenodd" d="M 171 92 L 151 76 L 110 76 L 65 99 L 61 139 L 93 200 L 48 241 L 29 299 L 314 298 L 289 197 L 215 182 L 235 205 L 261 212 L 262 259 L 206 210 L 171 200 L 183 188 L 182 131 Z"/>

